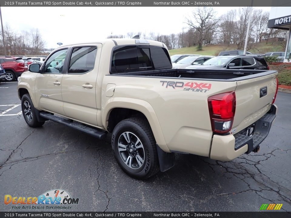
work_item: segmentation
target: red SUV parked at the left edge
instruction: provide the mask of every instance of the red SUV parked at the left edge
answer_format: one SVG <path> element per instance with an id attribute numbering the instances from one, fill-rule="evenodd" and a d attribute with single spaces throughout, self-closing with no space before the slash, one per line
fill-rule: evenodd
<path id="1" fill-rule="evenodd" d="M 6 81 L 13 81 L 28 71 L 28 65 L 19 57 L 0 56 L 0 64 L 6 72 Z"/>

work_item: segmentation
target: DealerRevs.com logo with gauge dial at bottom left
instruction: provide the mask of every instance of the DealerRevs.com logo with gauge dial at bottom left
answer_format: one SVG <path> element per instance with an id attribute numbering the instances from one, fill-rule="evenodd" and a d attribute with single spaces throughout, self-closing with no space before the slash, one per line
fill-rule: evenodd
<path id="1" fill-rule="evenodd" d="M 71 209 L 72 204 L 78 204 L 79 198 L 72 198 L 64 190 L 50 190 L 38 197 L 4 196 L 6 205 L 12 204 L 12 209 Z"/>

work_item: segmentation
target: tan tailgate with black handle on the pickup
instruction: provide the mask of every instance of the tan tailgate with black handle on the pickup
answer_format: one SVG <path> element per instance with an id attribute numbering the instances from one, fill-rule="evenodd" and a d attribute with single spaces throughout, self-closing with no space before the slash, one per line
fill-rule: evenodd
<path id="1" fill-rule="evenodd" d="M 266 71 L 237 80 L 232 130 L 236 128 L 239 132 L 249 127 L 269 111 L 276 93 L 277 75 L 278 71 Z"/>

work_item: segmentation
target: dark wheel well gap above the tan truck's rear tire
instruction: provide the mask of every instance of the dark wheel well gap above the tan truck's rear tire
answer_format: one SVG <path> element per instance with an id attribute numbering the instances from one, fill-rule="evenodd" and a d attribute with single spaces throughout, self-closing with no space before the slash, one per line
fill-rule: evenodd
<path id="1" fill-rule="evenodd" d="M 114 127 L 122 120 L 130 117 L 142 117 L 147 120 L 146 116 L 140 112 L 128 108 L 114 108 L 109 114 L 107 130 L 112 132 Z M 148 120 L 147 120 L 148 121 Z"/>

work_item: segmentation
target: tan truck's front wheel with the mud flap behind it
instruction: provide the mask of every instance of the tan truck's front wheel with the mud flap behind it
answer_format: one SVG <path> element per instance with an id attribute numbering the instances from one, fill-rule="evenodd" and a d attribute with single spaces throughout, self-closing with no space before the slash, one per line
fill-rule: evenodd
<path id="1" fill-rule="evenodd" d="M 29 94 L 24 94 L 21 98 L 21 109 L 22 114 L 25 119 L 25 122 L 30 127 L 40 127 L 45 122 L 38 122 L 36 114 L 35 114 L 35 108 L 33 106 L 32 100 L 29 96 Z"/>

